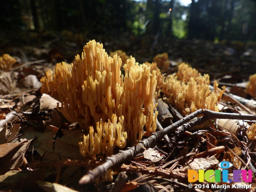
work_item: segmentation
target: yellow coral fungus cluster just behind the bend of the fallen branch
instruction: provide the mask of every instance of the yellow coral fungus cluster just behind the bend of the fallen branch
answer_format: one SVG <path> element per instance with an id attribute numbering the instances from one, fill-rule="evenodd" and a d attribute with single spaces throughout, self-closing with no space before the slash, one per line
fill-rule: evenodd
<path id="1" fill-rule="evenodd" d="M 218 111 L 218 95 L 222 94 L 215 83 L 216 92 L 210 91 L 209 75 L 202 76 L 188 64 L 181 64 L 177 74 L 164 79 L 162 92 L 177 110 L 186 116 L 200 108 Z"/>

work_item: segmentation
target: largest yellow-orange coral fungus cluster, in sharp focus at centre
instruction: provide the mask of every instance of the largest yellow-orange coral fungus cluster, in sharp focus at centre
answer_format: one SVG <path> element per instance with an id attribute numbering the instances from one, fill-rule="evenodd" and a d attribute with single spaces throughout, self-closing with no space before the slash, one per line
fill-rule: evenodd
<path id="1" fill-rule="evenodd" d="M 62 104 L 58 110 L 70 122 L 79 122 L 88 130 L 89 134 L 80 144 L 84 156 L 106 153 L 103 150 L 106 147 L 110 150 L 107 154 L 112 154 L 115 146 L 124 147 L 120 135 L 126 140 L 127 134 L 129 141 L 137 143 L 143 135 L 149 136 L 156 130 L 157 113 L 153 112 L 156 71 L 151 73 L 150 67 L 139 65 L 131 57 L 124 64 L 123 76 L 121 64 L 117 54 L 109 57 L 103 45 L 93 40 L 84 46 L 82 56 L 77 55 L 72 64 L 57 64 L 54 72 L 48 70 L 41 79 L 41 92 L 58 99 Z M 120 132 L 122 126 L 124 129 Z M 112 137 L 106 133 L 108 130 L 114 131 L 112 136 L 116 142 L 107 139 Z M 108 136 L 104 138 L 104 135 Z M 95 148 L 96 140 L 102 142 Z M 106 146 L 110 143 L 113 146 Z"/>

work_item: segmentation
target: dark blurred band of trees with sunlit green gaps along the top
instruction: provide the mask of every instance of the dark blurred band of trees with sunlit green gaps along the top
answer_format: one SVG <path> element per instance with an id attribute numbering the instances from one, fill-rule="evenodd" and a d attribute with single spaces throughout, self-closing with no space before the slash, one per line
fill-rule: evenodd
<path id="1" fill-rule="evenodd" d="M 171 11 L 169 11 L 171 9 Z M 255 0 L 10 0 L 0 6 L 0 30 L 71 30 L 116 34 L 256 40 Z"/>

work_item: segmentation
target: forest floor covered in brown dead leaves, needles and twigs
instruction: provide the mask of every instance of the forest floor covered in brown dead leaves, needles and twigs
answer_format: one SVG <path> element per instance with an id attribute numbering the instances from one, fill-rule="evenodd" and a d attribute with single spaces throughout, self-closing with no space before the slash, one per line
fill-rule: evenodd
<path id="1" fill-rule="evenodd" d="M 176 72 L 178 63 L 186 62 L 202 74 L 209 74 L 211 84 L 217 80 L 220 86 L 226 86 L 227 94 L 248 99 L 242 104 L 222 101 L 223 112 L 242 114 L 246 108 L 247 114 L 255 114 L 254 103 L 252 106 L 246 104 L 247 101 L 254 100 L 245 89 L 249 76 L 256 72 L 256 42 L 223 40 L 213 43 L 206 40 L 134 36 L 128 33 L 87 36 L 68 31 L 61 35 L 52 32 L 23 32 L 19 35 L 4 33 L 0 35 L 0 56 L 10 54 L 17 62 L 9 74 L 0 74 L 0 84 L 6 76 L 11 76 L 12 79 L 9 87 L 0 90 L 1 191 L 109 191 L 111 188 L 118 189 L 114 186 L 115 182 L 117 185 L 122 183 L 122 180 L 116 179 L 116 175 L 112 182 L 78 185 L 78 180 L 87 172 L 86 168 L 91 169 L 100 162 L 93 164 L 82 161 L 78 147 L 82 133 L 77 124 L 70 125 L 57 110 L 40 111 L 40 78 L 45 75 L 46 70 L 53 69 L 57 62 L 71 63 L 76 54 L 81 54 L 84 44 L 92 39 L 103 43 L 108 54 L 123 50 L 139 63 L 152 62 L 154 56 L 167 52 L 170 62 L 167 74 Z M 237 98 L 231 98 L 237 101 Z M 207 187 L 189 189 L 187 176 L 170 176 L 173 170 L 184 168 L 190 156 L 195 155 L 194 151 L 188 151 L 184 144 L 186 142 L 197 142 L 199 152 L 209 150 L 209 146 L 217 150 L 220 146 L 228 146 L 230 150 L 226 148 L 222 153 L 215 151 L 216 155 L 211 158 L 207 158 L 210 154 L 202 155 L 197 163 L 209 163 L 212 168 L 217 169 L 216 161 L 228 159 L 236 169 L 243 167 L 252 170 L 255 183 L 256 151 L 245 134 L 252 122 L 239 122 L 239 126 L 237 120 L 219 122 L 225 133 L 224 130 L 216 130 L 213 121 L 209 122 L 181 136 L 171 153 L 164 140 L 160 139 L 157 145 L 152 146 L 152 150 L 147 150 L 148 154 L 140 153 L 133 160 L 127 160 L 125 164 L 118 166 L 115 170 L 126 172 L 128 176 L 122 183 L 122 191 L 216 191 L 217 189 Z M 171 138 L 174 134 L 172 132 L 168 136 Z M 196 182 L 197 186 L 198 184 L 200 183 Z M 252 183 L 241 184 L 248 186 Z M 253 184 L 248 191 L 255 189 L 256 185 Z"/>

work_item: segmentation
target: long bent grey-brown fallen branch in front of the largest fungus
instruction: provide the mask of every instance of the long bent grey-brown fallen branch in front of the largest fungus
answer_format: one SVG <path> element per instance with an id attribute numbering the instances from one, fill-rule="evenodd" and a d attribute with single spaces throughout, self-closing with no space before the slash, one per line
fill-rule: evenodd
<path id="1" fill-rule="evenodd" d="M 172 132 L 174 129 L 182 126 L 186 122 L 192 120 L 193 118 L 204 114 L 200 121 L 210 120 L 210 119 L 237 119 L 237 120 L 256 120 L 256 115 L 247 115 L 247 114 L 230 114 L 230 113 L 221 113 L 213 112 L 206 109 L 199 109 L 196 112 L 189 114 L 188 116 L 182 118 L 181 120 L 175 122 L 174 124 L 153 133 L 150 137 L 140 141 L 137 145 L 134 145 L 127 150 L 121 151 L 118 154 L 112 155 L 106 158 L 106 162 L 102 165 L 97 166 L 93 170 L 90 170 L 88 174 L 84 175 L 80 180 L 79 184 L 88 184 L 94 179 L 98 178 L 100 175 L 104 175 L 110 168 L 117 166 L 118 164 L 124 162 L 127 159 L 132 159 L 137 154 L 143 152 L 145 149 L 150 148 L 157 140 L 164 137 L 164 135 Z"/>

